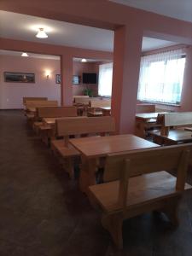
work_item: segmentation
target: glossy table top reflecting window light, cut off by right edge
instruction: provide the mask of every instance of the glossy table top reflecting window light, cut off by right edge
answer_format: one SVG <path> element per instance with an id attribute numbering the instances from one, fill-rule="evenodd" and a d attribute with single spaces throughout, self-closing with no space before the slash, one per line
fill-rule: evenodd
<path id="1" fill-rule="evenodd" d="M 160 131 L 152 131 L 151 134 L 154 134 L 158 137 L 165 137 L 171 141 L 174 142 L 192 142 L 192 133 L 191 131 L 185 131 L 183 129 L 176 129 L 176 130 L 170 130 L 169 134 L 166 135 L 160 135 Z"/>

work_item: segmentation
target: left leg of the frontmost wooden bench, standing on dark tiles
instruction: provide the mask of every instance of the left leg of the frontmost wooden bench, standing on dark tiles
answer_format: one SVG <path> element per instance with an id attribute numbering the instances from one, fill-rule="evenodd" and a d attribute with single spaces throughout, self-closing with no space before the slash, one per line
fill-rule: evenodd
<path id="1" fill-rule="evenodd" d="M 122 224 L 123 218 L 121 214 L 102 216 L 102 226 L 108 230 L 113 237 L 114 244 L 119 247 L 119 249 L 123 248 Z"/>

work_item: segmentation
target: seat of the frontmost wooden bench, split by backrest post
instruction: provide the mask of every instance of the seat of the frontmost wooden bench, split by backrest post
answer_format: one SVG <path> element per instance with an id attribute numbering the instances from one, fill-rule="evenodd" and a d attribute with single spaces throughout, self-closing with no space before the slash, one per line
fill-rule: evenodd
<path id="1" fill-rule="evenodd" d="M 130 177 L 127 209 L 178 195 L 176 180 L 176 177 L 165 171 Z M 189 184 L 185 184 L 185 189 L 191 188 Z M 90 186 L 89 190 L 104 212 L 122 211 L 118 205 L 119 181 L 96 184 Z"/>

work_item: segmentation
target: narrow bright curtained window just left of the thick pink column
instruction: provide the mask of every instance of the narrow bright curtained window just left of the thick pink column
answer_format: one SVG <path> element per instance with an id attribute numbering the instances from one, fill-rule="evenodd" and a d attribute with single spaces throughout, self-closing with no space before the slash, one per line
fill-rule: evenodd
<path id="1" fill-rule="evenodd" d="M 111 96 L 113 63 L 99 65 L 98 93 L 100 96 Z"/>

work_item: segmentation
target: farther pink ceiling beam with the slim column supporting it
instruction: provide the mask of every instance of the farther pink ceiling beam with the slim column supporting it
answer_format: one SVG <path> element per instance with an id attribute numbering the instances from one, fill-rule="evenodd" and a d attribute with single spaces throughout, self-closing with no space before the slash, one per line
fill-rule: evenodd
<path id="1" fill-rule="evenodd" d="M 0 49 L 32 52 L 44 55 L 61 56 L 61 104 L 70 106 L 73 104 L 73 87 L 71 78 L 73 76 L 73 57 L 113 60 L 113 53 L 101 50 L 80 49 L 68 46 L 33 43 L 8 38 L 0 38 Z"/>

